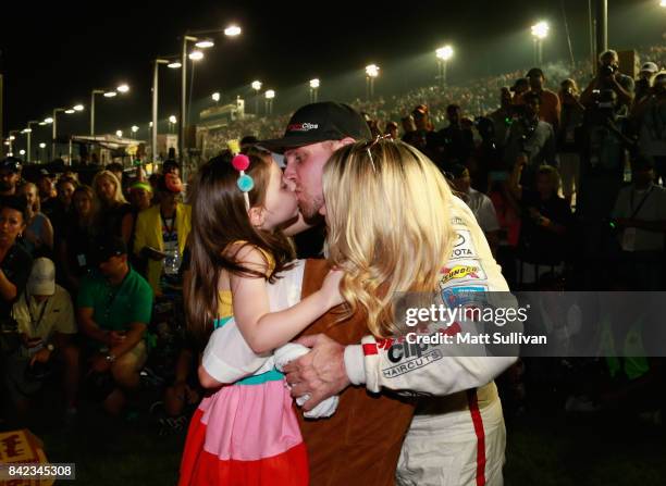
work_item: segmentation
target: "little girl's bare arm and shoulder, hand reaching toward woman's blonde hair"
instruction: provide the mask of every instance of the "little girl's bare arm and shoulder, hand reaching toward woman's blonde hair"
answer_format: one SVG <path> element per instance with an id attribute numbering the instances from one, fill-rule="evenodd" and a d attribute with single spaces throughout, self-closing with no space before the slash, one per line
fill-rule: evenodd
<path id="1" fill-rule="evenodd" d="M 242 248 L 235 258 L 248 269 L 268 272 L 263 257 L 255 248 Z M 342 303 L 340 271 L 329 273 L 320 290 L 280 312 L 270 311 L 263 278 L 232 275 L 230 279 L 236 324 L 256 353 L 286 344 L 329 309 Z"/>

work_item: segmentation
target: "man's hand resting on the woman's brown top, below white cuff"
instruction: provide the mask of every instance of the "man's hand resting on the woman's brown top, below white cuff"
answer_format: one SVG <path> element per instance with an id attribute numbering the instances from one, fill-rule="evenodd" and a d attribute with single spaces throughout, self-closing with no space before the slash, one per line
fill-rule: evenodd
<path id="1" fill-rule="evenodd" d="M 312 410 L 323 400 L 349 386 L 345 371 L 345 347 L 323 334 L 305 336 L 296 342 L 312 348 L 310 352 L 284 367 L 292 396 L 309 395 L 303 409 Z"/>

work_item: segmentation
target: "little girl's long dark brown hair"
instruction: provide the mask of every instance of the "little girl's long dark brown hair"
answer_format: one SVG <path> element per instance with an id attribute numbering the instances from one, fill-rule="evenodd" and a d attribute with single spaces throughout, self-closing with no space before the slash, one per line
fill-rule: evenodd
<path id="1" fill-rule="evenodd" d="M 246 171 L 255 187 L 248 192 L 251 207 L 264 204 L 271 164 L 269 157 L 249 154 L 250 165 Z M 185 310 L 188 327 L 193 334 L 205 337 L 218 317 L 218 282 L 222 270 L 236 275 L 275 281 L 275 274 L 291 267 L 294 247 L 282 232 L 264 232 L 250 224 L 245 198 L 236 180 L 239 173 L 232 163 L 231 152 L 224 152 L 203 164 L 195 178 L 192 198 L 192 262 Z M 239 264 L 229 254 L 232 244 L 244 241 L 264 250 L 275 261 L 274 269 L 264 275 Z M 242 247 L 238 248 L 238 250 Z M 236 251 L 237 253 L 237 251 Z M 264 257 L 266 258 L 266 257 Z M 267 264 L 269 262 L 267 261 Z"/>

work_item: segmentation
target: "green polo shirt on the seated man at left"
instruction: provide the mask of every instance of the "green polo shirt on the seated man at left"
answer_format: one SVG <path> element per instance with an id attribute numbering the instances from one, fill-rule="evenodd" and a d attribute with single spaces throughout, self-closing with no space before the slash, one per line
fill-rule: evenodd
<path id="1" fill-rule="evenodd" d="M 101 329 L 128 331 L 131 323 L 150 323 L 152 289 L 132 267 L 115 287 L 101 274 L 94 273 L 81 283 L 77 307 L 91 308 L 92 320 Z"/>

